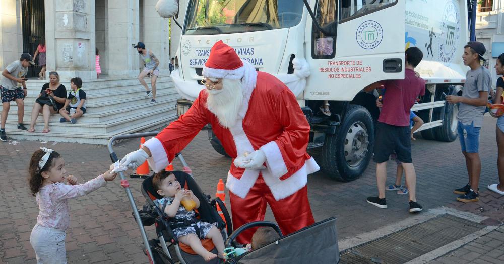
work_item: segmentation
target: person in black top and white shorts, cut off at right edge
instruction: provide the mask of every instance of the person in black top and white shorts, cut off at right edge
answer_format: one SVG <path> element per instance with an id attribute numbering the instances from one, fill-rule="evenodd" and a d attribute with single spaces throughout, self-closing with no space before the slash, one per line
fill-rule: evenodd
<path id="1" fill-rule="evenodd" d="M 504 91 L 504 53 L 498 56 L 495 63 L 495 72 L 497 73 L 497 92 L 495 92 L 493 103 L 504 104 L 500 96 Z M 488 189 L 496 192 L 497 194 L 504 195 L 504 116 L 497 119 L 497 127 L 495 128 L 495 135 L 497 138 L 497 172 L 499 174 L 499 183 L 491 184 Z"/>

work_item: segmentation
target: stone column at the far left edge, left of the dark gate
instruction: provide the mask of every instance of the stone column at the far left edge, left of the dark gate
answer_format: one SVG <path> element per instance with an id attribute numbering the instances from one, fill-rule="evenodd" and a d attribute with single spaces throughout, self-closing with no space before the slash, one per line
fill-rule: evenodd
<path id="1" fill-rule="evenodd" d="M 0 68 L 5 69 L 23 53 L 21 0 L 0 0 Z M 33 54 L 32 54 L 33 55 Z"/>

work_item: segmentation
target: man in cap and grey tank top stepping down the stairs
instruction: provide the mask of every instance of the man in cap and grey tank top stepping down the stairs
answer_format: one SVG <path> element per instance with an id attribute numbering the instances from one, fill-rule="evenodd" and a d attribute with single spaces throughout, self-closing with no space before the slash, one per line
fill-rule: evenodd
<path id="1" fill-rule="evenodd" d="M 144 85 L 146 94 L 149 96 L 151 94 L 151 91 L 149 90 L 149 86 L 147 86 L 147 83 L 145 82 L 144 78 L 145 77 L 151 77 L 151 87 L 152 87 L 152 99 L 151 99 L 151 104 L 156 103 L 156 80 L 157 77 L 159 76 L 159 60 L 156 58 L 154 53 L 152 51 L 145 49 L 145 44 L 143 42 L 137 43 L 137 45 L 134 47 L 137 48 L 138 53 L 140 54 L 140 58 L 144 62 L 144 70 L 140 72 L 138 75 L 138 80 L 140 81 L 140 84 Z"/>

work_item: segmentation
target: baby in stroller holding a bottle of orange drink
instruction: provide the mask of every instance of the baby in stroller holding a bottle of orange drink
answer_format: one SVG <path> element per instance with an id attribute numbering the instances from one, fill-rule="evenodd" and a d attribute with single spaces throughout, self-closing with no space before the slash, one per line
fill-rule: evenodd
<path id="1" fill-rule="evenodd" d="M 154 175 L 152 179 L 154 191 L 163 196 L 162 199 L 154 200 L 154 203 L 163 210 L 170 218 L 170 226 L 177 239 L 190 246 L 205 261 L 210 261 L 216 257 L 224 259 L 224 240 L 217 223 L 201 222 L 196 218 L 194 209 L 200 207 L 200 201 L 191 190 L 184 190 L 178 183 L 175 175 L 169 171 L 161 171 Z M 184 207 L 182 201 L 193 200 L 196 204 L 194 208 Z M 185 206 L 188 206 L 184 203 Z M 212 239 L 219 255 L 207 251 L 201 244 L 200 239 Z"/>

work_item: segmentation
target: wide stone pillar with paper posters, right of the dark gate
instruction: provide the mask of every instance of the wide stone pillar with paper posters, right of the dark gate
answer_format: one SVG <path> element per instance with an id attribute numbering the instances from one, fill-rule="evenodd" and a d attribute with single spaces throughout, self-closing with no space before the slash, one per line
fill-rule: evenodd
<path id="1" fill-rule="evenodd" d="M 95 2 L 46 0 L 47 70 L 63 79 L 96 79 Z"/>

